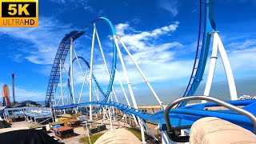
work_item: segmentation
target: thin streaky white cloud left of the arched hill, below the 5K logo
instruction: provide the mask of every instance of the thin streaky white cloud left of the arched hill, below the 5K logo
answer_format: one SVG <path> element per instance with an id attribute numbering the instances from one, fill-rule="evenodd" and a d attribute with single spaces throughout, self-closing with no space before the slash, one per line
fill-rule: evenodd
<path id="1" fill-rule="evenodd" d="M 21 48 L 22 55 L 30 62 L 36 64 L 52 64 L 59 42 L 63 35 L 70 32 L 70 25 L 63 25 L 53 18 L 43 18 L 39 20 L 38 28 L 1 28 L 0 34 L 7 34 L 13 38 L 30 42 L 31 46 Z M 18 62 L 21 55 L 14 56 Z"/>

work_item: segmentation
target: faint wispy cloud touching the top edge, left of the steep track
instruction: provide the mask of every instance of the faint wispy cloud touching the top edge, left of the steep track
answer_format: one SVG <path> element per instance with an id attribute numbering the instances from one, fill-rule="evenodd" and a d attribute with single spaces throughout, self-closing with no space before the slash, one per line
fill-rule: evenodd
<path id="1" fill-rule="evenodd" d="M 178 14 L 178 1 L 177 0 L 158 0 L 158 6 L 163 10 L 167 10 L 173 16 Z"/>

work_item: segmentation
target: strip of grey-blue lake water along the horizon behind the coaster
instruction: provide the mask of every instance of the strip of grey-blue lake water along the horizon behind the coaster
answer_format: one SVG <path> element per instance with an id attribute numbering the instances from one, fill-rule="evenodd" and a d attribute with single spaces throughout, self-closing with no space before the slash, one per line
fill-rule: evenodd
<path id="1" fill-rule="evenodd" d="M 198 87 L 198 90 L 195 95 L 202 95 L 203 90 L 205 88 L 205 84 L 201 84 Z M 243 94 L 248 94 L 250 96 L 256 95 L 256 80 L 241 80 L 236 82 L 236 88 L 238 92 L 238 98 Z M 158 97 L 162 100 L 163 104 L 169 104 L 173 102 L 177 98 L 181 98 L 184 93 L 185 87 L 178 88 L 168 88 L 163 90 L 156 90 Z M 136 91 L 134 91 L 135 93 Z M 123 94 L 122 94 L 123 95 Z M 138 96 L 139 95 L 139 96 Z M 150 95 L 150 96 L 149 96 Z M 218 98 L 221 100 L 230 100 L 230 92 L 226 82 L 216 82 L 212 84 L 212 88 L 210 90 L 210 96 L 214 98 Z M 136 101 L 138 106 L 153 106 L 158 105 L 158 102 L 155 100 L 154 96 L 150 94 L 149 91 L 141 92 L 139 94 L 135 94 Z M 125 98 L 122 96 L 118 98 L 119 102 L 126 104 Z M 88 100 L 89 101 L 89 100 Z M 88 102 L 87 101 L 87 102 Z M 82 102 L 86 102 L 83 100 Z M 130 99 L 130 102 L 131 99 Z M 39 104 L 44 105 L 44 101 L 38 102 Z"/>

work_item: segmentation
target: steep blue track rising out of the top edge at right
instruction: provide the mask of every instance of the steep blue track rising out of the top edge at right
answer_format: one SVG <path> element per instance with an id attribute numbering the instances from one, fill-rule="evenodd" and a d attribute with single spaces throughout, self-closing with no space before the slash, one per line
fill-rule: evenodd
<path id="1" fill-rule="evenodd" d="M 214 22 L 214 0 L 200 0 L 200 16 L 199 16 L 199 30 L 198 30 L 198 44 L 197 51 L 194 58 L 194 66 L 190 76 L 190 82 L 186 87 L 183 97 L 194 95 L 198 89 L 202 76 L 206 68 L 206 62 L 210 47 L 210 32 L 216 31 Z M 200 53 L 200 56 L 198 57 Z M 178 107 L 186 106 L 187 102 L 182 102 Z"/>

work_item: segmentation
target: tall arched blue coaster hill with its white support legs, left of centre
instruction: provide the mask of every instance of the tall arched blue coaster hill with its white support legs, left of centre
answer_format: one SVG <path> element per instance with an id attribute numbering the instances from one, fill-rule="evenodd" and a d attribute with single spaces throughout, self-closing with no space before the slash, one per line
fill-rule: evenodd
<path id="1" fill-rule="evenodd" d="M 111 46 L 106 46 L 104 45 L 104 42 L 101 42 L 100 36 L 102 32 L 96 28 L 96 24 L 98 26 L 98 23 L 100 22 L 104 22 L 101 24 L 107 24 L 106 26 L 108 27 L 106 28 L 109 28 L 108 30 L 110 30 L 110 34 L 106 35 L 106 38 L 109 39 Z M 90 29 L 91 27 L 92 29 Z M 104 25 L 98 27 L 101 29 Z M 92 35 L 88 34 L 90 30 L 93 32 Z M 78 54 L 78 49 L 76 49 L 74 43 L 74 41 L 78 41 L 78 38 L 83 38 L 82 35 L 85 34 L 88 34 L 87 37 L 91 40 L 90 50 L 86 50 L 87 53 L 90 51 L 90 53 L 88 53 L 90 56 L 87 56 L 90 58 L 82 57 Z M 98 46 L 96 43 L 98 43 Z M 110 118 L 110 125 L 112 128 L 111 119 L 113 118 L 114 121 L 117 119 L 114 116 L 114 106 L 107 106 L 104 103 L 99 102 L 92 107 L 95 103 L 91 103 L 89 105 L 89 110 L 85 110 L 84 106 L 78 106 L 78 104 L 88 102 L 88 100 L 89 102 L 118 102 L 118 98 L 122 95 L 126 98 L 125 100 L 128 106 L 134 106 L 135 109 L 138 109 L 134 90 L 131 84 L 132 82 L 129 78 L 130 72 L 126 69 L 127 64 L 123 56 L 124 54 L 122 53 L 126 53 L 128 58 L 130 58 L 130 62 L 134 64 L 135 68 L 138 70 L 138 74 L 140 74 L 142 76 L 142 80 L 146 82 L 148 90 L 150 90 L 159 106 L 163 108 L 162 102 L 158 98 L 153 87 L 150 85 L 145 74 L 143 74 L 138 63 L 134 61 L 132 54 L 130 54 L 130 51 L 125 46 L 124 42 L 122 42 L 122 39 L 118 37 L 112 22 L 104 17 L 89 22 L 82 30 L 74 30 L 70 32 L 70 34 L 66 34 L 62 39 L 50 73 L 46 92 L 46 106 L 52 107 L 54 111 L 58 109 L 58 106 L 64 106 L 62 109 L 63 113 L 66 113 L 66 109 L 71 109 L 74 113 L 80 111 L 83 114 L 90 115 L 90 120 L 93 120 L 93 114 L 103 114 L 102 122 L 106 117 Z M 68 55 L 70 57 L 67 57 Z M 69 61 L 66 61 L 66 58 L 69 58 Z M 90 61 L 87 61 L 86 59 L 90 59 Z M 98 61 L 98 59 L 101 59 L 102 61 L 102 65 L 100 66 L 95 62 Z M 118 64 L 120 64 L 120 67 L 117 66 Z M 69 66 L 69 68 L 66 69 L 66 66 Z M 100 70 L 102 71 L 97 71 L 98 67 L 100 67 Z M 118 71 L 121 72 L 118 73 Z M 80 78 L 82 79 L 82 85 L 79 86 L 77 84 L 77 80 L 79 79 L 78 73 L 82 77 Z M 102 74 L 105 75 L 102 76 Z M 128 89 L 127 92 L 122 84 L 122 78 L 125 78 L 124 80 L 126 81 Z M 102 82 L 104 79 L 106 79 L 106 81 Z M 114 80 L 116 82 L 114 82 Z M 115 86 L 118 86 L 118 88 L 122 90 L 121 94 L 117 94 Z M 132 102 L 129 101 L 129 94 Z M 108 114 L 107 110 L 109 111 Z M 123 116 L 126 118 L 126 114 Z M 145 142 L 144 126 L 142 126 L 143 121 L 139 117 L 136 118 L 134 114 L 131 114 L 131 116 L 134 118 L 134 122 L 141 127 L 142 139 L 144 139 L 143 142 Z M 148 129 L 146 125 L 145 127 Z"/>

